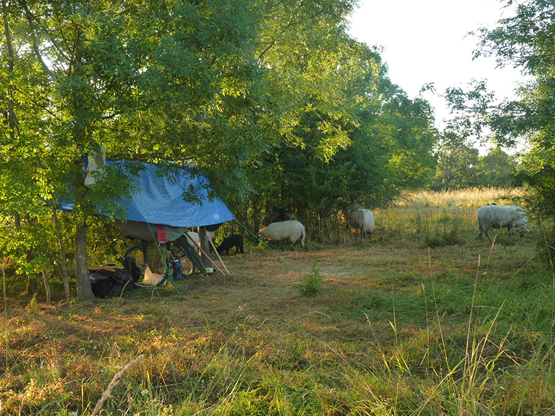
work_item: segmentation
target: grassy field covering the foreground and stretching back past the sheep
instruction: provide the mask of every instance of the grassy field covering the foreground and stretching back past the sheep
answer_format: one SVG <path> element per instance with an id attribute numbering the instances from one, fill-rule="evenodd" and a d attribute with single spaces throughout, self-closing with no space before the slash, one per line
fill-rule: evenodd
<path id="1" fill-rule="evenodd" d="M 248 246 L 231 276 L 177 289 L 8 294 L 0 414 L 89 415 L 105 392 L 101 415 L 552 415 L 547 225 L 479 240 L 475 210 L 501 193 L 409 196 L 375 211 L 371 241 L 338 226 L 308 252 Z"/>

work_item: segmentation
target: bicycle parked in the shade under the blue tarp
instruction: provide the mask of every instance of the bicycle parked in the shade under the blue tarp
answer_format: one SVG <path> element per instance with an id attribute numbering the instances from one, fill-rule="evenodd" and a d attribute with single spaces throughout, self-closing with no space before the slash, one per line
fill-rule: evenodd
<path id="1" fill-rule="evenodd" d="M 148 288 L 153 286 L 162 286 L 166 283 L 169 278 L 169 273 L 171 272 L 174 280 L 181 280 L 183 277 L 189 277 L 194 275 L 195 265 L 187 256 L 187 252 L 183 249 L 182 245 L 175 242 L 162 243 L 162 248 L 169 250 L 170 256 L 166 261 L 166 267 L 164 268 L 164 275 L 159 281 L 152 281 L 151 279 L 145 279 L 146 269 L 148 267 L 146 250 L 148 243 L 146 241 L 141 241 L 139 245 L 135 245 L 132 248 L 126 250 L 120 262 L 123 266 L 126 266 L 124 261 L 128 263 L 135 263 L 138 267 L 137 274 L 139 276 L 134 279 L 133 286 L 137 288 Z M 185 273 L 182 270 L 189 270 Z"/>

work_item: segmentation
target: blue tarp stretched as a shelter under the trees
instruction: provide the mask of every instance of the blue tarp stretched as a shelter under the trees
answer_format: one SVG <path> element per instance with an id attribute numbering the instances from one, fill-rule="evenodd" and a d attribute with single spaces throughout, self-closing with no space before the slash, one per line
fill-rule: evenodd
<path id="1" fill-rule="evenodd" d="M 122 161 L 106 162 L 111 164 L 123 164 Z M 129 164 L 130 162 L 125 162 Z M 178 169 L 171 178 L 158 177 L 155 174 L 155 165 L 144 162 L 133 162 L 142 164 L 144 169 L 139 171 L 135 180 L 137 181 L 136 193 L 131 198 L 122 198 L 121 207 L 126 208 L 124 218 L 119 220 L 133 220 L 141 223 L 170 225 L 171 227 L 200 227 L 225 223 L 233 219 L 233 214 L 225 204 L 215 198 L 208 199 L 206 186 L 209 184 L 206 177 L 191 177 L 185 169 Z M 196 195 L 202 202 L 196 204 L 183 200 L 183 191 L 194 187 Z M 71 210 L 69 205 L 60 209 Z"/>

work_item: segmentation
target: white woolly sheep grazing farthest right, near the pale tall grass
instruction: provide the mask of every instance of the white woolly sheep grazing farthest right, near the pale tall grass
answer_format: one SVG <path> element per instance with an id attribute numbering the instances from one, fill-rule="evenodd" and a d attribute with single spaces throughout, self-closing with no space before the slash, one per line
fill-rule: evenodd
<path id="1" fill-rule="evenodd" d="M 515 235 L 515 230 L 518 230 L 521 237 L 530 231 L 526 227 L 528 218 L 526 213 L 524 213 L 524 209 L 516 205 L 484 205 L 477 209 L 476 217 L 480 239 L 481 234 L 486 234 L 488 239 L 493 241 L 489 234 L 490 228 L 501 229 L 507 227 L 510 236 Z"/>

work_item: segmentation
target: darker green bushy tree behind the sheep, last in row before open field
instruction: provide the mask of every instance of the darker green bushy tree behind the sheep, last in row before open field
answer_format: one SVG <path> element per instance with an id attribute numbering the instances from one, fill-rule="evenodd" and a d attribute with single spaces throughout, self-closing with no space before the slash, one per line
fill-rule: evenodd
<path id="1" fill-rule="evenodd" d="M 376 51 L 355 42 L 348 50 L 338 60 L 350 75 L 340 94 L 350 116 L 330 116 L 311 96 L 291 129 L 296 141 L 276 144 L 253 172 L 253 182 L 264 184 L 259 208 L 286 207 L 310 228 L 325 226 L 350 200 L 378 207 L 402 189 L 421 187 L 435 166 L 429 105 L 409 100 L 388 80 Z M 327 153 L 323 144 L 338 132 L 343 144 Z"/>

